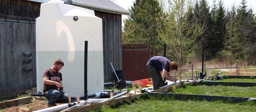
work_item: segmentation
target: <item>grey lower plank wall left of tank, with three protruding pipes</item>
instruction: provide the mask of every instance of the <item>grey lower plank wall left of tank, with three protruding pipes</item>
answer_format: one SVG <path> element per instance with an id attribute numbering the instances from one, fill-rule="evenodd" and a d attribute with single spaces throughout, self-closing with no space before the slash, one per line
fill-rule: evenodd
<path id="1" fill-rule="evenodd" d="M 0 21 L 0 46 L 0 98 L 23 95 L 37 87 L 35 24 Z M 32 57 L 23 55 L 24 51 Z M 25 72 L 24 67 L 31 68 L 32 73 Z"/>

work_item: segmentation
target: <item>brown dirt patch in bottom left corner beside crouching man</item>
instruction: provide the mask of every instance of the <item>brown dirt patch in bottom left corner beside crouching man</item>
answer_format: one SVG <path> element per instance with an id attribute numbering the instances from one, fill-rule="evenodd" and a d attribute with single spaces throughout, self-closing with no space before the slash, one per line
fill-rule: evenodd
<path id="1" fill-rule="evenodd" d="M 48 100 L 46 98 L 35 96 L 28 104 L 0 109 L 0 112 L 18 112 L 19 107 L 25 107 L 25 108 L 31 107 L 32 111 L 41 110 L 41 109 L 48 108 L 47 103 L 48 103 Z M 56 104 L 56 105 L 58 106 L 62 104 Z M 22 112 L 27 112 L 27 111 L 22 110 Z"/>

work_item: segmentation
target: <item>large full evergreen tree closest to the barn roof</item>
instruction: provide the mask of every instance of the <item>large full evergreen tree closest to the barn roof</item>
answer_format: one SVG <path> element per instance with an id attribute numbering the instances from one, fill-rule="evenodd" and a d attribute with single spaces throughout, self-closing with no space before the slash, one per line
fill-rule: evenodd
<path id="1" fill-rule="evenodd" d="M 136 0 L 129 9 L 131 14 L 124 20 L 123 43 L 150 43 L 151 57 L 163 50 L 156 31 L 161 7 L 157 0 Z"/>

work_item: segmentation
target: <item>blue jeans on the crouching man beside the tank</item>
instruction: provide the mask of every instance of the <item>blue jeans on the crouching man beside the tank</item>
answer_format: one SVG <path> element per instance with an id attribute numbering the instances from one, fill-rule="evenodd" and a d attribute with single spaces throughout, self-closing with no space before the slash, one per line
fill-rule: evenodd
<path id="1" fill-rule="evenodd" d="M 62 104 L 68 102 L 68 94 L 59 90 L 48 90 L 45 94 L 45 97 L 48 99 L 48 104 Z"/>

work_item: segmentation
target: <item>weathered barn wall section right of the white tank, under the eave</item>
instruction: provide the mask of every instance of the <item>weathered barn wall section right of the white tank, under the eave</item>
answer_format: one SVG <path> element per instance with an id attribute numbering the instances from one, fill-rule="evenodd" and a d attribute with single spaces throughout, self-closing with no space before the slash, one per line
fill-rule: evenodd
<path id="1" fill-rule="evenodd" d="M 95 16 L 102 19 L 103 55 L 104 55 L 104 83 L 114 82 L 115 71 L 122 70 L 122 15 L 94 11 Z"/>

